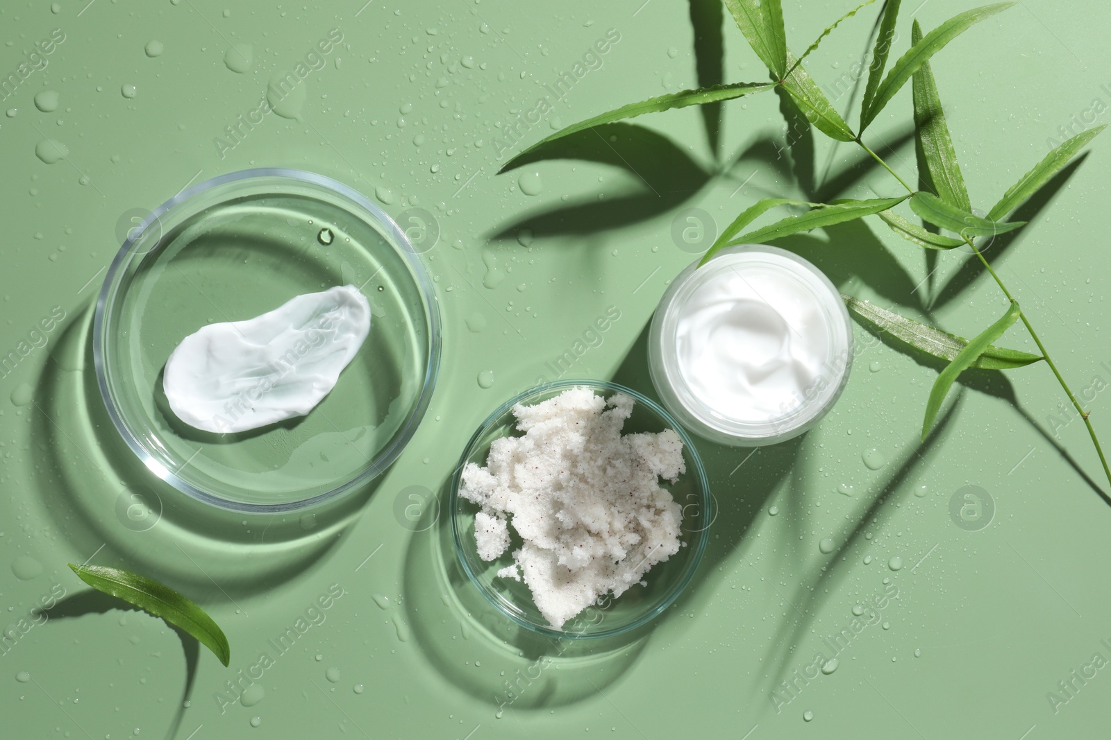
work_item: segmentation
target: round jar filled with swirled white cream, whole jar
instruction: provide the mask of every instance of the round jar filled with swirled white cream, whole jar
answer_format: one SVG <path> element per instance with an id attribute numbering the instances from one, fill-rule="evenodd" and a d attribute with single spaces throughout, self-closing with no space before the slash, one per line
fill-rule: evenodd
<path id="1" fill-rule="evenodd" d="M 829 278 L 774 246 L 721 250 L 671 283 L 652 317 L 649 371 L 695 434 L 737 446 L 802 434 L 852 366 L 849 312 Z"/>

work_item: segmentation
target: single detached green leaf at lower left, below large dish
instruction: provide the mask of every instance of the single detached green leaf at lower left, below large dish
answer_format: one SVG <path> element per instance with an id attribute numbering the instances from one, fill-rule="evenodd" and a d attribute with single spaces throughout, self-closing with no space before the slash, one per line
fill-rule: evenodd
<path id="1" fill-rule="evenodd" d="M 204 614 L 203 609 L 172 588 L 127 570 L 103 566 L 76 566 L 72 562 L 67 565 L 78 578 L 98 591 L 133 604 L 189 632 L 214 652 L 224 667 L 231 661 L 231 648 L 220 627 Z"/>

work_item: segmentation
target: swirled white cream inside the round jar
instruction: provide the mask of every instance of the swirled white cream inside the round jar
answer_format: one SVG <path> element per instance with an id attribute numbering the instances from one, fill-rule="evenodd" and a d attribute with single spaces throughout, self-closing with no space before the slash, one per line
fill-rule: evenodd
<path id="1" fill-rule="evenodd" d="M 715 273 L 680 308 L 680 372 L 694 396 L 724 417 L 782 417 L 828 361 L 830 331 L 819 302 L 828 288 L 774 254 L 723 254 L 711 265 Z"/>

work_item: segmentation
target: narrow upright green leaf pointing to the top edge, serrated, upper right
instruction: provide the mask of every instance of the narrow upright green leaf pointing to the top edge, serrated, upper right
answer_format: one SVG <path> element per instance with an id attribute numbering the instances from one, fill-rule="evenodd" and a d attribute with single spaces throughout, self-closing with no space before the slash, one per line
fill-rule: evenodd
<path id="1" fill-rule="evenodd" d="M 911 43 L 922 40 L 922 29 L 918 21 L 914 21 L 911 30 Z M 922 149 L 922 156 L 925 166 L 930 172 L 930 180 L 937 189 L 938 197 L 965 211 L 972 210 L 969 202 L 968 189 L 964 186 L 964 176 L 961 175 L 961 166 L 957 163 L 957 151 L 953 149 L 953 140 L 949 135 L 949 126 L 945 124 L 945 114 L 941 109 L 941 99 L 938 97 L 938 83 L 930 71 L 930 63 L 922 62 L 922 65 L 914 72 L 912 83 L 914 98 L 914 130 L 918 133 L 918 143 Z"/>

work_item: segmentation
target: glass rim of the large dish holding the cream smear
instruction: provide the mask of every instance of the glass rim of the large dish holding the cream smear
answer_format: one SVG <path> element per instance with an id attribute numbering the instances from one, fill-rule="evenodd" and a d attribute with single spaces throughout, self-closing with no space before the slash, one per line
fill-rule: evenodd
<path id="1" fill-rule="evenodd" d="M 147 233 L 147 230 L 152 223 L 160 221 L 163 215 L 178 206 L 190 202 L 197 195 L 214 187 L 239 181 L 262 180 L 266 178 L 288 179 L 293 182 L 309 183 L 323 190 L 336 192 L 351 201 L 354 205 L 366 210 L 371 220 L 377 221 L 384 226 L 387 232 L 389 232 L 389 235 L 394 240 L 392 246 L 394 246 L 394 249 L 397 249 L 409 263 L 410 273 L 420 288 L 428 320 L 429 356 L 424 367 L 424 384 L 417 398 L 413 412 L 410 414 L 409 418 L 406 419 L 403 426 L 399 430 L 398 437 L 388 447 L 382 449 L 374 457 L 374 459 L 370 460 L 367 467 L 364 467 L 358 475 L 354 475 L 349 480 L 334 486 L 329 490 L 314 496 L 309 496 L 307 498 L 280 504 L 249 504 L 246 501 L 234 501 L 223 498 L 190 483 L 189 480 L 186 480 L 177 473 L 169 470 L 164 465 L 162 465 L 162 463 L 153 454 L 151 454 L 151 452 L 142 443 L 140 435 L 132 429 L 131 424 L 127 418 L 124 418 L 123 414 L 120 413 L 112 395 L 111 385 L 108 382 L 110 371 L 108 368 L 108 359 L 106 357 L 104 349 L 104 321 L 109 314 L 109 310 L 114 307 L 114 303 L 120 295 L 120 282 L 117 278 L 121 277 L 124 270 L 136 260 L 141 263 L 150 255 L 156 255 L 160 252 L 160 245 L 157 245 L 154 249 L 144 253 L 137 253 L 132 250 L 136 242 L 138 242 Z M 104 275 L 104 282 L 101 285 L 99 295 L 97 296 L 97 307 L 93 314 L 92 323 L 92 356 L 97 374 L 97 385 L 100 388 L 100 396 L 103 399 L 108 415 L 112 419 L 112 424 L 120 437 L 123 438 L 123 442 L 131 449 L 131 452 L 136 454 L 143 467 L 154 474 L 154 476 L 159 479 L 171 485 L 173 488 L 203 504 L 209 504 L 226 510 L 242 511 L 248 514 L 286 514 L 304 509 L 336 499 L 381 475 L 382 472 L 393 464 L 393 462 L 401 455 L 401 452 L 412 438 L 428 409 L 432 392 L 436 388 L 437 376 L 439 374 L 440 352 L 441 337 L 439 298 L 437 297 L 436 290 L 433 288 L 432 282 L 428 276 L 427 268 L 420 261 L 417 251 L 413 249 L 413 245 L 409 241 L 406 233 L 398 226 L 388 213 L 382 211 L 378 205 L 372 203 L 370 199 L 353 187 L 350 187 L 338 180 L 328 178 L 327 175 L 290 168 L 253 168 L 228 172 L 184 187 L 172 197 L 163 201 L 160 205 L 152 210 L 138 226 L 129 231 L 127 237 L 123 240 L 123 244 L 120 246 L 116 256 L 112 259 L 112 262 L 109 264 L 108 273 Z"/>

